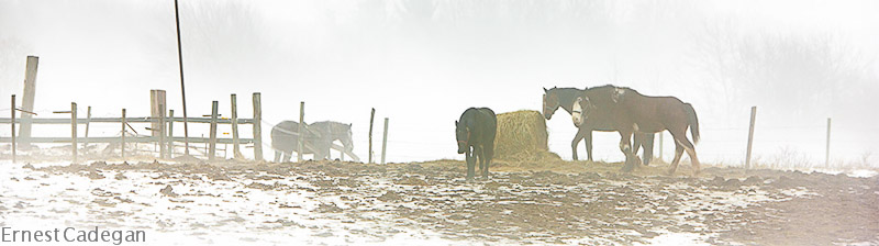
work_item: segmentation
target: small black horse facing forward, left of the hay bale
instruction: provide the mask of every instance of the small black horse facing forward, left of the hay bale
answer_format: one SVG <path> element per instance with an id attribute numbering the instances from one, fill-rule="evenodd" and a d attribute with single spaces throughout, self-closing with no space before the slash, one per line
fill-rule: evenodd
<path id="1" fill-rule="evenodd" d="M 477 158 L 482 178 L 488 179 L 488 166 L 494 156 L 494 134 L 498 118 L 488 108 L 470 108 L 455 121 L 455 136 L 458 139 L 458 154 L 467 159 L 467 180 L 472 180 Z"/>

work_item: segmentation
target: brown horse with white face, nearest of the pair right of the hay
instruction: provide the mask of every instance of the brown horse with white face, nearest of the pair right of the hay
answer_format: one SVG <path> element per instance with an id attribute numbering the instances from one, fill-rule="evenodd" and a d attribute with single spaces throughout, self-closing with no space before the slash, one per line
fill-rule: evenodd
<path id="1" fill-rule="evenodd" d="M 675 97 L 648 97 L 630 88 L 605 86 L 597 88 L 592 93 L 583 93 L 576 99 L 574 124 L 591 121 L 592 114 L 608 107 L 604 101 L 613 102 L 610 110 L 614 111 L 612 123 L 616 125 L 622 139 L 620 150 L 626 156 L 623 171 L 631 171 L 637 160 L 630 147 L 630 136 L 635 132 L 657 133 L 668 130 L 675 138 L 675 159 L 668 175 L 675 174 L 680 157 L 686 150 L 693 164 L 693 175 L 699 175 L 700 164 L 696 156 L 696 147 L 687 138 L 687 127 L 696 143 L 699 142 L 699 118 L 690 103 L 685 103 Z M 634 157 L 634 158 L 633 158 Z"/>

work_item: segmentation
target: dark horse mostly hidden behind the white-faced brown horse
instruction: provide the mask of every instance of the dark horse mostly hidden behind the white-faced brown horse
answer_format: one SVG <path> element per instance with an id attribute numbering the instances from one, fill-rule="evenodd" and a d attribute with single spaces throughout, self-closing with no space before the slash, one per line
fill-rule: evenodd
<path id="1" fill-rule="evenodd" d="M 552 119 L 553 114 L 558 110 L 558 108 L 564 109 L 568 113 L 572 113 L 571 111 L 576 98 L 582 96 L 583 93 L 592 93 L 592 91 L 596 91 L 600 88 L 601 87 L 596 87 L 586 90 L 556 87 L 547 90 L 544 88 L 543 116 L 546 118 L 546 120 Z M 612 114 L 613 111 L 610 107 L 601 107 L 599 110 L 592 112 L 592 115 L 589 118 L 589 121 L 587 121 L 586 124 L 581 124 L 577 127 L 577 134 L 574 135 L 574 141 L 570 143 L 574 160 L 577 160 L 577 145 L 579 145 L 580 141 L 582 139 L 586 142 L 587 159 L 592 161 L 592 131 L 616 132 L 615 125 L 612 124 Z M 633 153 L 637 153 L 639 147 L 644 147 L 644 165 L 648 165 L 650 159 L 653 159 L 653 134 L 635 134 L 635 149 Z"/>

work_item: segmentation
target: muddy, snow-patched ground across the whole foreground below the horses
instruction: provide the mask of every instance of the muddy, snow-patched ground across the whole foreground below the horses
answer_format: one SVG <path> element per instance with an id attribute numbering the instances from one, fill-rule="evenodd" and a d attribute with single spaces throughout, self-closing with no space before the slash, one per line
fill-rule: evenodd
<path id="1" fill-rule="evenodd" d="M 455 160 L 36 166 L 3 177 L 4 225 L 38 214 L 197 243 L 879 244 L 877 176 L 498 161 L 468 183 Z"/>

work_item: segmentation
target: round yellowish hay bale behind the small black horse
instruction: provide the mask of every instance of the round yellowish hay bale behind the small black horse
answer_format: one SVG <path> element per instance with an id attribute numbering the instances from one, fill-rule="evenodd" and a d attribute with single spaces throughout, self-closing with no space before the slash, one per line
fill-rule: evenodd
<path id="1" fill-rule="evenodd" d="M 498 114 L 498 133 L 494 136 L 494 158 L 508 161 L 535 161 L 547 157 L 546 121 L 533 110 Z"/>

